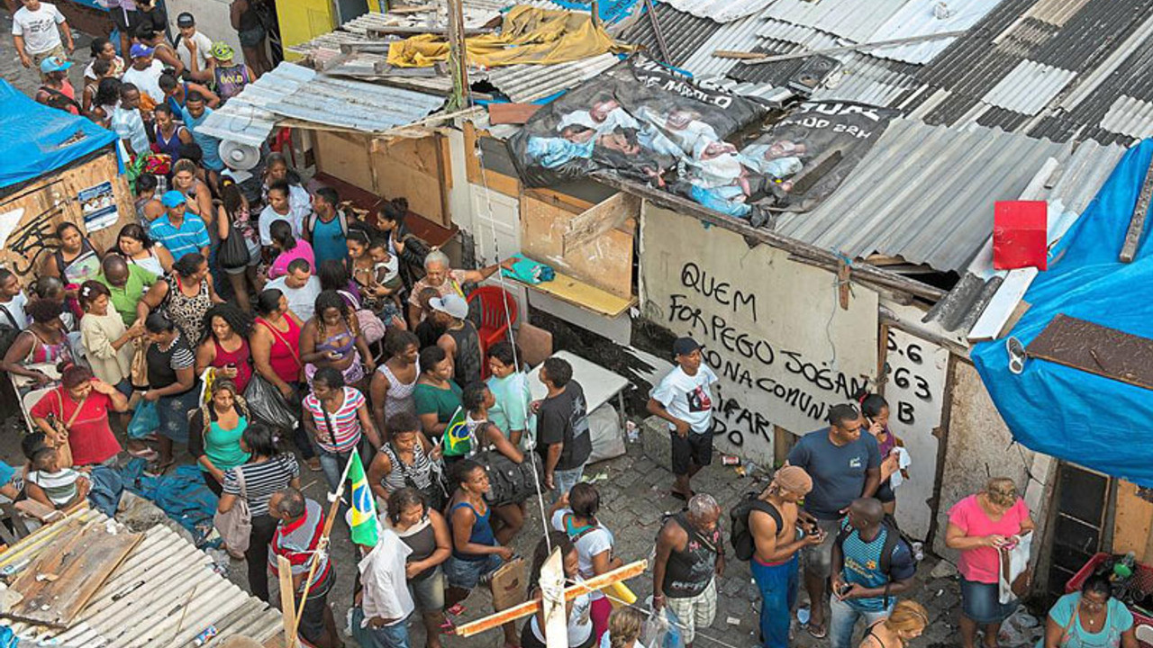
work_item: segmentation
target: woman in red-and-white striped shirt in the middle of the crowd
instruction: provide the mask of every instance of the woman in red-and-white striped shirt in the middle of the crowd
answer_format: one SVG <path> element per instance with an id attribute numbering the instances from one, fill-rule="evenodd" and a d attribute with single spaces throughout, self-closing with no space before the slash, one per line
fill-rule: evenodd
<path id="1" fill-rule="evenodd" d="M 304 397 L 304 429 L 321 447 L 321 468 L 329 487 L 336 490 L 352 452 L 361 452 L 366 460 L 364 438 L 374 449 L 380 447 L 380 437 L 372 424 L 368 401 L 359 390 L 345 385 L 345 377 L 331 367 L 322 367 L 312 376 L 312 393 Z"/>

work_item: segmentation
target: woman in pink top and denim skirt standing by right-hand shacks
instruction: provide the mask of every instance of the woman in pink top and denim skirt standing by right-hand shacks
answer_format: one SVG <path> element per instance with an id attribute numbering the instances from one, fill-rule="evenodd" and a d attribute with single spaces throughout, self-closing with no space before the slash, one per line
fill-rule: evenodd
<path id="1" fill-rule="evenodd" d="M 1017 609 L 1017 601 L 1001 603 L 997 572 L 1002 548 L 1016 544 L 1033 530 L 1028 506 L 1017 496 L 1017 485 L 995 477 L 985 490 L 962 499 L 949 510 L 945 547 L 960 551 L 960 639 L 974 648 L 977 626 L 985 630 L 986 648 L 996 648 L 1001 623 Z"/>

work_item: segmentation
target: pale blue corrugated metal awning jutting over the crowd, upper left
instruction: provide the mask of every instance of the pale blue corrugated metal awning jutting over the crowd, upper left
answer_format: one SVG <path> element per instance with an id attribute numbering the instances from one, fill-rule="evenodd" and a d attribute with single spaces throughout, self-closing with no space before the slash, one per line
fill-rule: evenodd
<path id="1" fill-rule="evenodd" d="M 417 121 L 442 105 L 443 97 L 285 62 L 214 111 L 197 131 L 254 145 L 285 119 L 379 133 Z"/>

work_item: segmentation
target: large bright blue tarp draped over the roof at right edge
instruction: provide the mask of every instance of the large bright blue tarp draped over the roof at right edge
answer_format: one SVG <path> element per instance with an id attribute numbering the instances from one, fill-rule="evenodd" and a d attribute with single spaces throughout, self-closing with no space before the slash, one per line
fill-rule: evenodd
<path id="1" fill-rule="evenodd" d="M 1011 332 L 1023 345 L 1057 314 L 1153 339 L 1153 221 L 1136 259 L 1117 261 L 1151 159 L 1153 140 L 1130 149 L 1050 253 L 1049 270 L 1025 293 L 1032 306 Z M 1013 375 L 1004 340 L 977 345 L 971 356 L 1025 447 L 1153 487 L 1153 391 L 1037 359 Z"/>

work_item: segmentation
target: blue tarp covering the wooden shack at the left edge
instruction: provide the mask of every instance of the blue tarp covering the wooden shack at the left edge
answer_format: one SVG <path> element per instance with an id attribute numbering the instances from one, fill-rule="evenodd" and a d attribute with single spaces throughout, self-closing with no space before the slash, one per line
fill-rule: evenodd
<path id="1" fill-rule="evenodd" d="M 91 120 L 37 104 L 0 78 L 0 188 L 39 178 L 116 141 Z"/>

